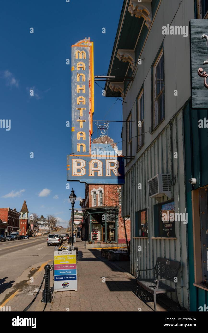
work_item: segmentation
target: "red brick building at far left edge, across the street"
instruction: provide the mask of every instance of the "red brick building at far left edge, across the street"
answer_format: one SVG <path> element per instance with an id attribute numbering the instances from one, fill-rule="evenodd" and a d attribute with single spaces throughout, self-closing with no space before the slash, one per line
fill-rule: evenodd
<path id="1" fill-rule="evenodd" d="M 14 209 L 11 209 L 9 207 L 7 208 L 0 208 L 0 219 L 2 220 L 1 223 L 1 234 L 5 233 L 7 235 L 10 235 L 11 232 L 16 232 L 19 230 L 19 216 L 20 212 Z M 3 224 L 3 222 L 6 222 Z M 4 229 L 4 230 L 3 230 Z M 7 232 L 5 231 L 7 229 Z"/>

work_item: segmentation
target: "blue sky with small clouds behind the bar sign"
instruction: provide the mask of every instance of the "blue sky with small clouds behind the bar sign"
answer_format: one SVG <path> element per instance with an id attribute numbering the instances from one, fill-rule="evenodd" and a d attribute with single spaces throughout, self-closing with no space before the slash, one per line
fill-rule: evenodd
<path id="1" fill-rule="evenodd" d="M 71 122 L 71 66 L 66 59 L 71 62 L 72 44 L 90 37 L 94 74 L 107 73 L 122 4 L 123 0 L 1 3 L 0 119 L 10 119 L 11 129 L 0 128 L 0 207 L 20 210 L 25 199 L 30 213 L 53 214 L 64 226 L 73 186 L 75 207 L 80 208 L 84 184 L 73 182 L 66 189 L 66 157 L 71 153 L 71 128 L 66 127 L 66 121 Z M 122 120 L 122 102 L 103 97 L 96 84 L 94 88 L 93 119 Z M 121 129 L 122 123 L 111 123 L 108 135 L 119 142 Z M 96 138 L 94 124 L 93 131 Z"/>

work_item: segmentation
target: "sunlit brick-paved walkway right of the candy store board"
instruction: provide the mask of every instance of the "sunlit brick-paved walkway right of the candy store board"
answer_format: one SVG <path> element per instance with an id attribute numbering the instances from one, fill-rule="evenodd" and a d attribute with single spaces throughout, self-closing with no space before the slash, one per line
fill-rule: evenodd
<path id="1" fill-rule="evenodd" d="M 81 240 L 74 245 L 78 247 L 78 291 L 53 293 L 50 311 L 153 311 L 135 295 L 133 276 L 103 261 L 101 251 L 86 249 Z"/>

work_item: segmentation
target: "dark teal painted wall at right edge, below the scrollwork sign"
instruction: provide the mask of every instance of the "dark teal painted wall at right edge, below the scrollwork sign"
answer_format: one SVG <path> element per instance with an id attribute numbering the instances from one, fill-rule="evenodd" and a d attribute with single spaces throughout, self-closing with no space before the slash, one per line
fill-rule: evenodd
<path id="1" fill-rule="evenodd" d="M 188 265 L 190 311 L 198 311 L 199 306 L 208 306 L 208 291 L 193 286 L 194 252 L 193 252 L 193 219 L 192 219 L 192 186 L 189 179 L 197 178 L 194 189 L 208 184 L 208 129 L 199 128 L 199 119 L 208 119 L 208 110 L 192 110 L 188 103 L 184 108 L 184 141 L 186 171 L 186 201 L 188 213 Z"/>

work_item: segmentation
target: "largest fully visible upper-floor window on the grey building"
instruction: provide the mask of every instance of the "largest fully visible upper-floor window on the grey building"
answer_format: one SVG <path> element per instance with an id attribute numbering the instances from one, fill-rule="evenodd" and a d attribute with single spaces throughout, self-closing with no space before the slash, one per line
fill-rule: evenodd
<path id="1" fill-rule="evenodd" d="M 154 64 L 154 108 L 153 108 L 153 129 L 165 117 L 164 103 L 164 57 L 161 51 Z"/>

